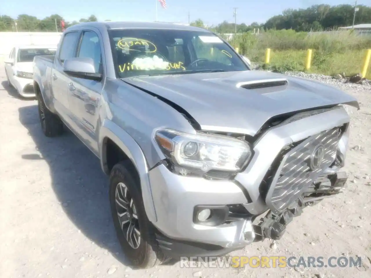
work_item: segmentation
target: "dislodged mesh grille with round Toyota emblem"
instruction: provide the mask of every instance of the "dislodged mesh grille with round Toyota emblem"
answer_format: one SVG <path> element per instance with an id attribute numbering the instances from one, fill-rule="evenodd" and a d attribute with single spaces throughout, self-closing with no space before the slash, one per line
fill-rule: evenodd
<path id="1" fill-rule="evenodd" d="M 269 208 L 279 213 L 297 199 L 335 160 L 341 129 L 333 128 L 313 135 L 287 152 L 266 196 Z M 323 150 L 323 152 L 322 152 Z M 318 158 L 323 153 L 321 163 Z"/>

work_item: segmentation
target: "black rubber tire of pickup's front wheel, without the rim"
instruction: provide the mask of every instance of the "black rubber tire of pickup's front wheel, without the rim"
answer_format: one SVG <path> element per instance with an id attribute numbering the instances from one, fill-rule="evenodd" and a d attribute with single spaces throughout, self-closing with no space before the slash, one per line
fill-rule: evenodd
<path id="1" fill-rule="evenodd" d="M 162 255 L 161 250 L 158 247 L 155 239 L 154 227 L 145 213 L 140 182 L 138 178 L 136 179 L 131 174 L 129 169 L 129 164 L 125 162 L 119 162 L 112 168 L 109 177 L 109 201 L 111 203 L 112 219 L 115 225 L 118 241 L 125 257 L 129 261 L 129 265 L 134 269 L 151 268 L 155 265 L 161 264 L 161 262 L 168 261 L 170 258 L 166 258 Z M 135 205 L 141 236 L 137 249 L 134 249 L 129 245 L 118 219 L 115 193 L 116 187 L 119 183 L 124 183 Z"/>

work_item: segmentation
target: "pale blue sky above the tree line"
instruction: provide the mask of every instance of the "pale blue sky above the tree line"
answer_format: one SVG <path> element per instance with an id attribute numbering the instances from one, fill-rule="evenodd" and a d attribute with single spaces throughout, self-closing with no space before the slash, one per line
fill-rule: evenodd
<path id="1" fill-rule="evenodd" d="M 79 20 L 94 14 L 98 20 L 154 21 L 157 0 L 1 0 L 1 14 L 17 17 L 30 14 L 40 19 L 50 14 L 60 14 L 67 21 Z M 237 9 L 237 23 L 264 23 L 282 10 L 306 8 L 313 4 L 354 4 L 349 0 L 166 0 L 167 9 L 158 2 L 158 21 L 188 22 L 201 18 L 206 24 L 218 24 L 223 20 L 234 22 L 233 7 Z M 371 6 L 371 0 L 358 4 Z M 78 12 L 80 10 L 80 12 Z"/>

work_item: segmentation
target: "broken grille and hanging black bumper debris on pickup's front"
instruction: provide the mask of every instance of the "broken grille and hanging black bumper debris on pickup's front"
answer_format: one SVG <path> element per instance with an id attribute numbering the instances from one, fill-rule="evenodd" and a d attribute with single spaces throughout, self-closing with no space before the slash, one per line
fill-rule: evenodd
<path id="1" fill-rule="evenodd" d="M 347 123 L 325 130 L 282 151 L 266 176 L 265 201 L 269 211 L 263 218 L 255 219 L 255 241 L 280 239 L 305 206 L 342 192 L 347 173 L 339 170 L 344 166 L 348 126 Z"/>

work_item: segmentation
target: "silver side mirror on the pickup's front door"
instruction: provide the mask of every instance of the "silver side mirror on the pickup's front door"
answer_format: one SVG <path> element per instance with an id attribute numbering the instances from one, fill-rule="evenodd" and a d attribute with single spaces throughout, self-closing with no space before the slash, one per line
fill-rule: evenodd
<path id="1" fill-rule="evenodd" d="M 102 74 L 95 72 L 92 58 L 71 58 L 63 62 L 63 72 L 69 76 L 101 81 Z"/>

